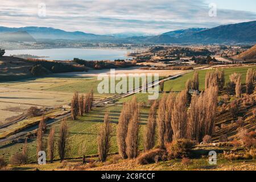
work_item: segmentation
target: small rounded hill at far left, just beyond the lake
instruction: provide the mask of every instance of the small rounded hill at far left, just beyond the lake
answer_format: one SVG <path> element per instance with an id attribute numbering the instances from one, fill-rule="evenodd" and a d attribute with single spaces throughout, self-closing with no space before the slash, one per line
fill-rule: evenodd
<path id="1" fill-rule="evenodd" d="M 7 42 L 36 42 L 36 40 L 26 31 L 2 33 L 0 40 Z"/>

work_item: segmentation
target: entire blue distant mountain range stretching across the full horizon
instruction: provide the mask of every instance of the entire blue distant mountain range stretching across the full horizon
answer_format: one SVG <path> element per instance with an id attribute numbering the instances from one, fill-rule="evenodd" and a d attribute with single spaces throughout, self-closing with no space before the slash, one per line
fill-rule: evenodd
<path id="1" fill-rule="evenodd" d="M 25 40 L 34 42 L 34 39 L 66 39 L 66 40 L 91 40 L 91 41 L 109 41 L 115 43 L 168 43 L 168 44 L 238 44 L 238 43 L 256 43 L 256 21 L 237 24 L 222 25 L 214 28 L 189 28 L 185 30 L 175 30 L 156 36 L 138 36 L 142 34 L 121 33 L 112 35 L 87 34 L 85 32 L 68 32 L 55 28 L 46 27 L 21 27 L 8 28 L 0 27 L 0 40 L 2 34 L 11 32 L 23 32 L 26 34 Z M 17 33 L 21 34 L 21 33 Z M 30 37 L 31 35 L 32 37 Z M 134 36 L 137 35 L 137 36 Z M 30 38 L 28 38 L 30 37 Z M 12 41 L 22 41 L 19 36 L 11 38 Z"/>

